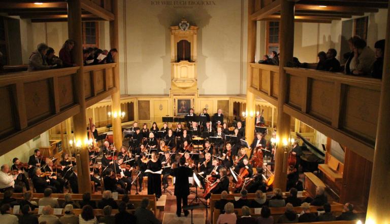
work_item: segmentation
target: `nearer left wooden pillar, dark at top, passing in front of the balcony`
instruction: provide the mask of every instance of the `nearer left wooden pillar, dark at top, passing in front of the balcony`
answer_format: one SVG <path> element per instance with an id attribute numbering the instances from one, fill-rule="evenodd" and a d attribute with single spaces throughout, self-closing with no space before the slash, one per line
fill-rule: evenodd
<path id="1" fill-rule="evenodd" d="M 89 155 L 85 139 L 87 139 L 87 121 L 85 114 L 85 94 L 84 94 L 84 77 L 83 77 L 83 36 L 81 30 L 81 1 L 68 1 L 68 34 L 69 39 L 75 41 L 75 46 L 72 50 L 72 57 L 74 62 L 80 66 L 77 71 L 74 85 L 76 88 L 76 101 L 80 104 L 80 113 L 73 116 L 74 136 L 76 141 L 81 141 L 81 150 L 77 153 L 78 185 L 79 193 L 90 192 L 91 183 L 89 176 Z"/>

